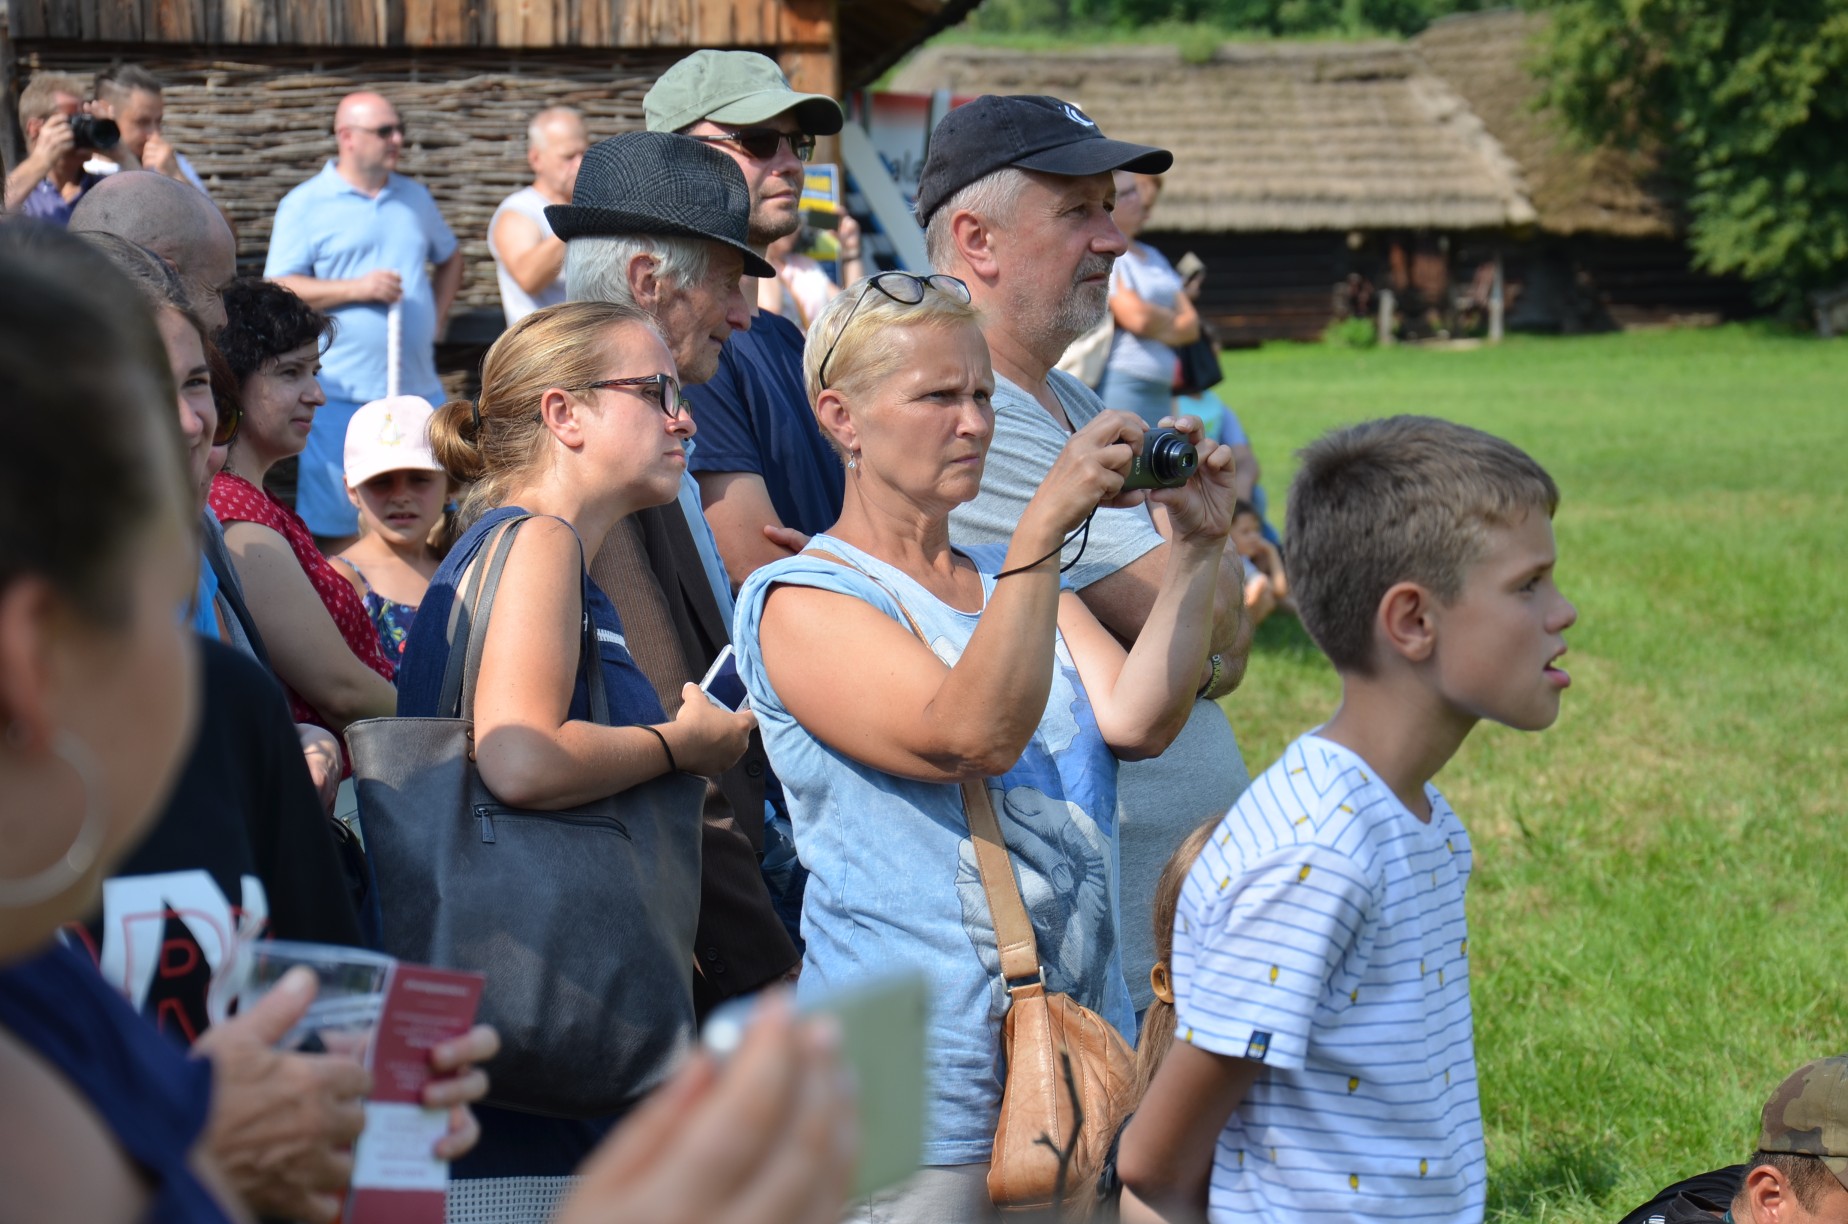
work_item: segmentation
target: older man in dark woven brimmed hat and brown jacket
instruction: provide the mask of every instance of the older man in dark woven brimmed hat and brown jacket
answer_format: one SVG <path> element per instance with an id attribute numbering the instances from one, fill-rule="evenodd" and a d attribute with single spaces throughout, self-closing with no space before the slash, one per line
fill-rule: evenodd
<path id="1" fill-rule="evenodd" d="M 571 203 L 545 209 L 565 240 L 567 298 L 647 311 L 682 385 L 710 379 L 726 338 L 747 325 L 739 279 L 769 272 L 748 242 L 748 218 L 750 192 L 730 157 L 660 131 L 593 144 Z M 680 501 L 617 523 L 591 577 L 615 603 L 630 655 L 671 717 L 682 686 L 699 682 L 730 643 L 732 625 L 732 588 L 691 477 Z M 767 773 L 752 734 L 745 756 L 706 788 L 693 982 L 700 1015 L 798 963 L 758 871 Z"/>

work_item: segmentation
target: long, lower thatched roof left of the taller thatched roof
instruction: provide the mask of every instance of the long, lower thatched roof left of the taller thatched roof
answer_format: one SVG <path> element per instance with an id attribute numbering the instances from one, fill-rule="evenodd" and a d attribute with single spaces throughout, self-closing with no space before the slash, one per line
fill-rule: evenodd
<path id="1" fill-rule="evenodd" d="M 1024 55 L 930 48 L 894 89 L 1053 94 L 1112 137 L 1172 148 L 1151 231 L 1506 229 L 1534 220 L 1519 168 L 1401 43 Z"/>

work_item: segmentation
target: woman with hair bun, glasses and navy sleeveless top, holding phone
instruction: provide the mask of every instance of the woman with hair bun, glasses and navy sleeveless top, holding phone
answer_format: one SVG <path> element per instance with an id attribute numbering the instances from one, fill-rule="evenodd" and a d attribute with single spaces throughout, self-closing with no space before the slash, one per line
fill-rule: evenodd
<path id="1" fill-rule="evenodd" d="M 649 316 L 604 301 L 534 311 L 488 349 L 480 398 L 445 403 L 429 433 L 436 462 L 468 484 L 464 531 L 410 627 L 397 714 L 455 714 L 440 708 L 449 610 L 488 542 L 508 520 L 530 514 L 506 557 L 482 640 L 473 708 L 482 784 L 514 808 L 560 810 L 667 773 L 711 777 L 737 762 L 756 719 L 719 708 L 693 684 L 669 719 L 628 653 L 615 606 L 584 568 L 623 516 L 667 505 L 680 492 L 693 418 L 680 399 L 675 359 Z M 590 662 L 602 669 L 610 725 L 591 721 L 578 667 L 586 614 L 597 634 Z M 684 832 L 697 841 L 699 830 L 695 808 Z M 697 891 L 686 904 L 697 910 Z M 619 956 L 619 949 L 610 954 Z M 691 945 L 686 954 L 691 971 Z M 691 1021 L 689 989 L 687 1032 Z M 597 1056 L 584 1050 L 586 1059 Z M 488 1109 L 482 1146 L 456 1176 L 529 1178 L 541 1187 L 536 1193 L 551 1193 L 604 1128 Z"/>

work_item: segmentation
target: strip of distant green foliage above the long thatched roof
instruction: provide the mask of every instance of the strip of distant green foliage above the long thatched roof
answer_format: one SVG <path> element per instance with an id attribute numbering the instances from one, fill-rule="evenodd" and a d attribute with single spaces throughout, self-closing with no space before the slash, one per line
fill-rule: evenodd
<path id="1" fill-rule="evenodd" d="M 1092 33 L 1161 24 L 1281 37 L 1417 33 L 1447 13 L 1506 0 L 985 0 L 972 24 L 1000 33 Z"/>

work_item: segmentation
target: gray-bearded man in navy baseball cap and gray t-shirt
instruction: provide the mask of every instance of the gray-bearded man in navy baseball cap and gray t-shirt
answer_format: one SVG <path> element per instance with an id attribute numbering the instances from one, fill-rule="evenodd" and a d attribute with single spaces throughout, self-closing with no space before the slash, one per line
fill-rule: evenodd
<path id="1" fill-rule="evenodd" d="M 1053 364 L 1103 318 L 1111 266 L 1127 246 L 1111 220 L 1112 170 L 1161 174 L 1172 163 L 1166 150 L 1105 139 L 1057 98 L 976 98 L 931 133 L 918 222 L 931 264 L 968 285 L 994 355 L 994 440 L 981 496 L 950 516 L 957 544 L 1013 536 L 1074 431 L 1103 412 L 1090 388 Z M 1164 512 L 1103 508 L 1066 544 L 1066 579 L 1112 634 L 1137 642 L 1172 545 Z M 1186 727 L 1157 760 L 1124 765 L 1118 782 L 1124 976 L 1138 1013 L 1153 997 L 1149 906 L 1162 863 L 1249 784 L 1233 728 L 1212 701 L 1238 684 L 1251 649 L 1242 564 L 1229 560 Z"/>

